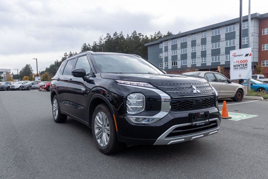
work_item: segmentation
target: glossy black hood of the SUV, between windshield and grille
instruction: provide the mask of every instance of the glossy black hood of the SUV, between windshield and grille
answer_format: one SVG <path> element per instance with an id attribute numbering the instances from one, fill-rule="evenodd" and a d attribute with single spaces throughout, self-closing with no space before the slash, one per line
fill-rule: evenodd
<path id="1" fill-rule="evenodd" d="M 113 80 L 125 80 L 147 83 L 206 83 L 203 78 L 188 77 L 183 75 L 171 74 L 118 74 L 118 73 L 101 73 L 101 78 Z"/>

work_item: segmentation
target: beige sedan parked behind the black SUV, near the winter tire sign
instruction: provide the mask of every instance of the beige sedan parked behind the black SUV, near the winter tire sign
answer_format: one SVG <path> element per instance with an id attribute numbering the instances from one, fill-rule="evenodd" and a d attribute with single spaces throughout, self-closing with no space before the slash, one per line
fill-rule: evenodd
<path id="1" fill-rule="evenodd" d="M 212 71 L 188 72 L 183 75 L 204 77 L 218 92 L 219 99 L 231 98 L 234 101 L 241 101 L 245 94 L 243 85 L 232 83 L 224 75 Z"/>

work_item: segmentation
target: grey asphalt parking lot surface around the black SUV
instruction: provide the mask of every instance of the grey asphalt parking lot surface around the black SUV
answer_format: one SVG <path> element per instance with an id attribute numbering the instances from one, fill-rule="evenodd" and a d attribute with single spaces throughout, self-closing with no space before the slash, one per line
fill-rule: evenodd
<path id="1" fill-rule="evenodd" d="M 105 155 L 84 124 L 54 122 L 50 92 L 0 91 L 0 178 L 267 178 L 268 101 L 226 102 L 257 116 L 222 119 L 217 134 L 190 142 Z"/>

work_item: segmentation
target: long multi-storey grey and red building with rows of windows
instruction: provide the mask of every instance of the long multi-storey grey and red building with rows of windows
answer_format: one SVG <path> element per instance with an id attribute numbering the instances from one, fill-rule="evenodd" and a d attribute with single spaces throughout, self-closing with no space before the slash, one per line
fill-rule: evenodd
<path id="1" fill-rule="evenodd" d="M 268 75 L 268 13 L 251 14 L 253 74 L 262 64 Z M 230 74 L 230 51 L 239 49 L 239 18 L 146 43 L 148 60 L 167 73 L 180 74 L 188 68 L 216 71 L 218 65 Z M 242 45 L 248 47 L 248 16 L 243 17 Z"/>

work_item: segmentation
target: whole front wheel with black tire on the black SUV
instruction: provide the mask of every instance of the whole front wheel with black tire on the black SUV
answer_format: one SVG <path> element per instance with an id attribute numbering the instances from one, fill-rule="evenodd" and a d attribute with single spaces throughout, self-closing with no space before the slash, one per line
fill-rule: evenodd
<path id="1" fill-rule="evenodd" d="M 92 134 L 95 144 L 104 154 L 119 152 L 125 146 L 117 139 L 115 122 L 107 104 L 99 104 L 95 108 L 92 118 Z"/>

